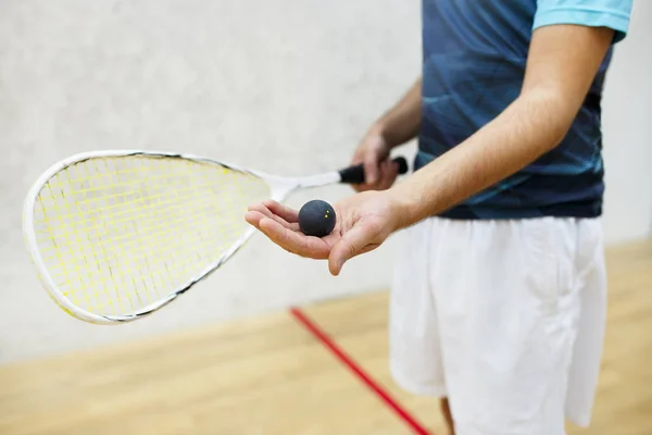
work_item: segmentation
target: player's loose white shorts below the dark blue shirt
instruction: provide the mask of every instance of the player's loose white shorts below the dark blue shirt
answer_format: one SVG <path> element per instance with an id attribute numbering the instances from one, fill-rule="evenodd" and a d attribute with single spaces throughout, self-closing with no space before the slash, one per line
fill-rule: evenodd
<path id="1" fill-rule="evenodd" d="M 397 384 L 448 397 L 457 435 L 588 425 L 606 311 L 600 219 L 431 217 L 397 236 Z"/>

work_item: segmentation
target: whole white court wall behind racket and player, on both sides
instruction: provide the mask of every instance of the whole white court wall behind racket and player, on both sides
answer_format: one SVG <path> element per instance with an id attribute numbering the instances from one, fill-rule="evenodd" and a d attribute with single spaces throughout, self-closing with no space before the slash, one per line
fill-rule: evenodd
<path id="1" fill-rule="evenodd" d="M 639 3 L 605 98 L 613 243 L 643 236 L 652 221 L 652 69 L 637 58 L 652 8 Z M 288 175 L 346 164 L 368 124 L 418 74 L 419 30 L 418 2 L 401 0 L 3 1 L 0 362 L 387 288 L 393 239 L 334 278 L 325 263 L 256 236 L 155 315 L 89 325 L 41 290 L 23 247 L 21 206 L 52 162 L 98 148 L 179 150 Z M 413 145 L 404 152 L 411 157 Z M 290 203 L 349 192 L 323 188 Z"/>

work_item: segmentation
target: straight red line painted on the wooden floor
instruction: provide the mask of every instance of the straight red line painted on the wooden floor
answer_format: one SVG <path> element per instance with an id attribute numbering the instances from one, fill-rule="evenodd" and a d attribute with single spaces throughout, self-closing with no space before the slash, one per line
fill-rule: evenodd
<path id="1" fill-rule="evenodd" d="M 333 338 L 330 338 L 326 332 L 312 321 L 301 309 L 292 308 L 290 313 L 309 330 L 315 338 L 317 338 L 324 346 L 326 346 L 340 362 L 347 365 L 359 380 L 364 382 L 376 395 L 383 399 L 391 410 L 393 410 L 412 430 L 419 435 L 434 435 L 428 432 L 415 418 L 413 418 L 405 409 L 401 407 L 397 399 L 391 397 L 376 381 L 374 381 L 363 368 L 356 363 L 350 356 L 348 356 Z"/>

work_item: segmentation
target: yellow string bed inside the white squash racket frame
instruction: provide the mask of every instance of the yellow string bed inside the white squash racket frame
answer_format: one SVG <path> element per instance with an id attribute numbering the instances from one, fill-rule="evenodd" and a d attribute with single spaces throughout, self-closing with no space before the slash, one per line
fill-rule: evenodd
<path id="1" fill-rule="evenodd" d="M 185 286 L 248 229 L 247 206 L 268 198 L 250 174 L 151 156 L 89 159 L 54 175 L 35 233 L 61 293 L 86 311 L 139 311 Z"/>

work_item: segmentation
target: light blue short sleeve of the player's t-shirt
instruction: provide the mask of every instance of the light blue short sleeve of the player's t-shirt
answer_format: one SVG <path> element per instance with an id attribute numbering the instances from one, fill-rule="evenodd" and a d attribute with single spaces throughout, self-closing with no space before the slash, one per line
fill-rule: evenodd
<path id="1" fill-rule="evenodd" d="M 634 0 L 537 0 L 532 30 L 554 24 L 609 27 L 614 44 L 625 39 Z M 649 0 L 645 0 L 649 1 Z"/>

